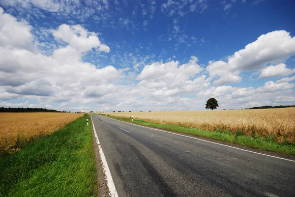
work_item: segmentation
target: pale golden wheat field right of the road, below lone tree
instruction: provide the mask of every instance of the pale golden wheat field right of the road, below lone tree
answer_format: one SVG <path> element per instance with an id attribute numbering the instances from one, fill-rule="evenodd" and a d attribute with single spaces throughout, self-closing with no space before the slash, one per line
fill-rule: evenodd
<path id="1" fill-rule="evenodd" d="M 261 110 L 124 112 L 107 113 L 153 123 L 179 125 L 215 131 L 243 131 L 247 136 L 272 136 L 278 142 L 295 142 L 295 108 Z"/>

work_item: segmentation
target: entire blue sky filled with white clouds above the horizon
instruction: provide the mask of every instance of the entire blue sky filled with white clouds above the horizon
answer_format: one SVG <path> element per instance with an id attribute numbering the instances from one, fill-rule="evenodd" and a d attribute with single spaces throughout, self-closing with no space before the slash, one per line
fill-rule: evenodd
<path id="1" fill-rule="evenodd" d="M 0 0 L 0 107 L 295 105 L 295 1 Z"/>

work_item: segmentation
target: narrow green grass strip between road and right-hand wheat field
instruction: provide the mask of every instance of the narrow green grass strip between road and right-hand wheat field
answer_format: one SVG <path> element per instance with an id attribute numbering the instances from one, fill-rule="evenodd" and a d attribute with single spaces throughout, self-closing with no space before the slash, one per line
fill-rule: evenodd
<path id="1" fill-rule="evenodd" d="M 111 115 L 108 115 L 108 117 L 122 120 L 125 122 L 132 122 L 130 118 L 115 117 Z M 256 148 L 259 150 L 267 150 L 271 152 L 295 155 L 295 144 L 279 143 L 279 142 L 276 142 L 271 137 L 266 137 L 266 138 L 248 137 L 248 136 L 245 136 L 245 134 L 241 131 L 238 131 L 235 134 L 228 131 L 221 132 L 220 130 L 216 130 L 214 132 L 214 131 L 207 131 L 203 129 L 187 128 L 183 126 L 151 123 L 151 122 L 147 122 L 143 120 L 134 120 L 132 123 L 144 125 L 148 127 L 154 127 L 158 129 L 164 129 L 168 131 L 174 131 L 174 132 L 183 133 L 183 134 L 189 134 L 192 136 L 199 136 L 199 137 L 209 138 L 209 139 L 218 140 L 218 141 L 225 141 L 225 142 L 229 142 L 233 144 L 247 146 L 250 148 Z"/>

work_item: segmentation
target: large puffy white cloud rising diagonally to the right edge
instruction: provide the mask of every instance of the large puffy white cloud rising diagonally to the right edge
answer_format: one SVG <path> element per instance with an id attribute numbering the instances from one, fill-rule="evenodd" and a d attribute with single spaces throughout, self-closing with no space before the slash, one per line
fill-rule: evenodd
<path id="1" fill-rule="evenodd" d="M 226 61 L 209 61 L 207 71 L 214 84 L 239 83 L 241 72 L 263 69 L 267 63 L 275 64 L 295 55 L 295 37 L 285 30 L 261 35 L 256 41 L 229 56 Z"/>

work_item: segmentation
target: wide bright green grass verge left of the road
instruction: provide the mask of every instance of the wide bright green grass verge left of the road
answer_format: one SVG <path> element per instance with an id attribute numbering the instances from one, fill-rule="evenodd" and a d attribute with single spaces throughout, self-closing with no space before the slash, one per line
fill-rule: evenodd
<path id="1" fill-rule="evenodd" d="M 86 118 L 0 157 L 0 196 L 96 196 L 92 131 Z"/>

